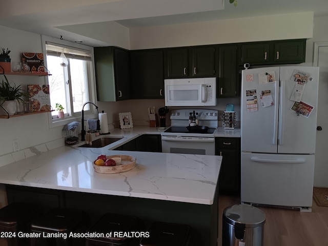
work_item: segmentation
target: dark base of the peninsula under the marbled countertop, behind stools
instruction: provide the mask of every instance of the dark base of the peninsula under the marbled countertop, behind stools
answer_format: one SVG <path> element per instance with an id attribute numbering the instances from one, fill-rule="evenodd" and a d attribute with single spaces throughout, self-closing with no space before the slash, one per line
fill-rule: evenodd
<path id="1" fill-rule="evenodd" d="M 8 202 L 31 202 L 48 208 L 64 207 L 84 210 L 89 215 L 89 224 L 94 224 L 102 215 L 115 213 L 135 216 L 140 220 L 140 232 L 147 232 L 154 221 L 188 224 L 193 229 L 193 245 L 216 246 L 218 238 L 218 194 L 213 204 L 197 204 L 132 196 L 104 195 L 74 191 L 55 191 L 45 188 L 6 186 Z M 90 190 L 92 191 L 92 190 Z M 29 195 L 28 195 L 29 194 Z M 65 198 L 65 199 L 64 199 Z M 40 203 L 41 202 L 41 203 Z M 59 203 L 58 203 L 59 202 Z M 47 209 L 47 210 L 46 210 Z M 135 237 L 129 245 L 139 245 Z M 42 244 L 45 245 L 45 244 Z M 75 245 L 75 244 L 74 244 Z M 85 244 L 76 244 L 85 245 Z"/>

